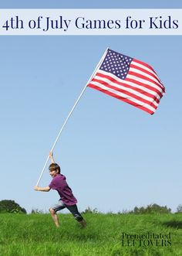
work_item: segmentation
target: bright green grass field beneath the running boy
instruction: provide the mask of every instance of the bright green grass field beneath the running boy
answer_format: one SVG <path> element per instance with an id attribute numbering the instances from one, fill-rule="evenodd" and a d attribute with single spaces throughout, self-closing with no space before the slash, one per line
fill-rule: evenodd
<path id="1" fill-rule="evenodd" d="M 72 215 L 59 214 L 61 227 L 56 228 L 49 214 L 0 214 L 0 255 L 182 255 L 182 213 L 86 213 L 84 217 L 88 225 L 81 228 Z"/>

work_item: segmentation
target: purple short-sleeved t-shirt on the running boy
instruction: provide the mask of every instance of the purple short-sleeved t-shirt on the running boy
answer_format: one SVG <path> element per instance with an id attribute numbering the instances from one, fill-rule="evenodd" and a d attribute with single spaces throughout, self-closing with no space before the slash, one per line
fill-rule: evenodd
<path id="1" fill-rule="evenodd" d="M 63 203 L 70 206 L 77 203 L 75 196 L 72 194 L 72 189 L 70 189 L 68 183 L 66 183 L 66 176 L 58 174 L 52 179 L 49 187 L 57 190 Z"/>

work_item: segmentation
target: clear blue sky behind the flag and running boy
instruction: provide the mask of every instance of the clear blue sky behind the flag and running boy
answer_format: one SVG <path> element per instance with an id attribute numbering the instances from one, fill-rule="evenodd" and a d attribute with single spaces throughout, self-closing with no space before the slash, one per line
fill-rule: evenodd
<path id="1" fill-rule="evenodd" d="M 180 1 L 1 2 L 10 8 L 181 8 Z M 54 155 L 79 209 L 132 210 L 181 202 L 181 36 L 1 36 L 0 200 L 48 210 L 33 190 L 72 105 L 106 47 L 149 63 L 166 87 L 153 116 L 87 88 Z M 46 169 L 40 186 L 49 185 Z"/>

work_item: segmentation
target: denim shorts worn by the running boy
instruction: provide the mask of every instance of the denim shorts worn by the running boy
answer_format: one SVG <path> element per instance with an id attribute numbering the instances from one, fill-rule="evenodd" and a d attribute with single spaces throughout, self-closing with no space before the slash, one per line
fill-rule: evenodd
<path id="1" fill-rule="evenodd" d="M 67 205 L 65 203 L 62 202 L 62 200 L 59 200 L 58 203 L 56 203 L 55 205 L 53 205 L 51 207 L 55 213 L 58 211 L 58 210 L 62 210 L 64 208 L 67 208 L 70 213 L 72 213 L 73 217 L 77 220 L 77 221 L 82 221 L 83 220 L 83 217 L 82 215 L 79 213 L 79 210 L 76 206 L 76 204 L 73 204 L 73 205 Z"/>

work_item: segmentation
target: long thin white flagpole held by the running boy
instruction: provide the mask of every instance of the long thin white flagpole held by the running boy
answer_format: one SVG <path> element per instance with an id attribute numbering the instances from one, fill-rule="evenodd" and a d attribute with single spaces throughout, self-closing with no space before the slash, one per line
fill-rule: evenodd
<path id="1" fill-rule="evenodd" d="M 93 71 L 92 76 L 89 77 L 89 80 L 88 80 L 88 82 L 86 83 L 86 86 L 83 88 L 83 90 L 82 90 L 81 94 L 79 95 L 79 97 L 78 97 L 76 103 L 75 103 L 74 106 L 72 107 L 72 110 L 69 112 L 69 115 L 68 115 L 68 117 L 66 118 L 66 121 L 65 121 L 64 124 L 62 125 L 61 130 L 59 131 L 59 134 L 58 134 L 58 136 L 57 136 L 57 138 L 56 138 L 56 141 L 55 141 L 54 144 L 52 145 L 51 152 L 52 152 L 53 149 L 55 148 L 56 143 L 58 142 L 59 137 L 60 137 L 60 135 L 61 135 L 61 133 L 62 133 L 62 130 L 63 130 L 63 128 L 65 127 L 67 121 L 69 120 L 70 115 L 72 114 L 72 111 L 74 111 L 74 109 L 76 108 L 76 104 L 78 104 L 80 98 L 83 96 L 83 93 L 84 93 L 84 91 L 86 90 L 87 85 L 88 85 L 89 82 L 93 79 L 93 76 L 95 75 L 96 70 L 99 68 L 99 66 L 100 66 L 101 63 L 103 62 L 103 59 L 105 58 L 108 49 L 109 49 L 109 48 L 107 48 L 106 51 L 103 53 L 103 56 L 102 56 L 101 59 L 99 60 L 99 63 L 97 64 L 95 70 Z M 36 183 L 36 186 L 39 186 L 39 182 L 40 182 L 40 180 L 41 180 L 41 178 L 42 178 L 43 172 L 45 171 L 45 167 L 46 167 L 48 161 L 49 161 L 49 156 L 47 157 L 47 159 L 46 159 L 46 161 L 45 161 L 45 165 L 43 166 L 42 172 L 41 172 L 41 174 L 40 174 L 40 176 L 39 176 L 39 179 L 38 179 L 38 182 Z"/>

